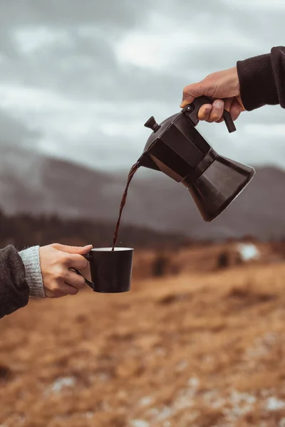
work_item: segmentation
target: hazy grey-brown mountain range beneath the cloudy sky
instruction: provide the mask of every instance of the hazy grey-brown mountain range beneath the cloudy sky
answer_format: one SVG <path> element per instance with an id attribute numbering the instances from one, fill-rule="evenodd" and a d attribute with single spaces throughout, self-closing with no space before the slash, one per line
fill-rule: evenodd
<path id="1" fill-rule="evenodd" d="M 114 221 L 127 172 L 112 175 L 16 147 L 1 147 L 0 206 L 6 214 L 28 212 Z M 197 239 L 285 236 L 285 172 L 257 168 L 247 189 L 212 223 L 199 215 L 187 189 L 140 170 L 130 185 L 123 223 L 187 234 Z"/>

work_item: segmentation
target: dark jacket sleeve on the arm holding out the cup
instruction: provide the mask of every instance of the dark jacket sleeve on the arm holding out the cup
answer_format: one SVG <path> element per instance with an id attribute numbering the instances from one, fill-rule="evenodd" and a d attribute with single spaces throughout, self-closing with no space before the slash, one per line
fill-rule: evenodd
<path id="1" fill-rule="evenodd" d="M 0 318 L 28 304 L 25 268 L 14 246 L 0 249 Z"/>

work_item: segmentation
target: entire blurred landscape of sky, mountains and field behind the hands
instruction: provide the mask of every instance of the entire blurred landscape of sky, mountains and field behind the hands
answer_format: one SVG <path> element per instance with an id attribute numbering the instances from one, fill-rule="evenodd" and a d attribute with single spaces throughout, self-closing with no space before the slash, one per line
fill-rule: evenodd
<path id="1" fill-rule="evenodd" d="M 126 176 L 182 88 L 284 43 L 280 0 L 1 0 L 0 243 L 110 246 Z M 199 123 L 257 169 L 213 223 L 140 169 L 118 245 L 128 295 L 1 320 L 1 427 L 285 426 L 285 122 Z"/>

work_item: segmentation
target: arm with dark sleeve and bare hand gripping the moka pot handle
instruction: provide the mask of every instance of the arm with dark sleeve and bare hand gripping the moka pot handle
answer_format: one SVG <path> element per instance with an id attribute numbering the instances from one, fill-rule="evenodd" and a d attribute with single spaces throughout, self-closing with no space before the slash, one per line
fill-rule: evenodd
<path id="1" fill-rule="evenodd" d="M 185 86 L 180 107 L 195 97 L 216 98 L 199 109 L 199 120 L 222 121 L 224 108 L 233 120 L 242 111 L 252 111 L 262 105 L 280 104 L 285 108 L 285 47 L 271 49 L 271 53 L 237 61 L 237 66 L 209 74 L 204 80 Z"/>

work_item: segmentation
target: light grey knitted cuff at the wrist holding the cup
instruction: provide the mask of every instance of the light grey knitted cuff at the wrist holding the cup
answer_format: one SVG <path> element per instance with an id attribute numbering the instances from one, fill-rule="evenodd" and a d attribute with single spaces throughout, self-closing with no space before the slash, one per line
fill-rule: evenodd
<path id="1" fill-rule="evenodd" d="M 39 246 L 32 246 L 19 252 L 26 270 L 26 281 L 30 288 L 31 297 L 46 297 L 43 288 L 43 277 L 41 275 L 41 263 Z"/>

